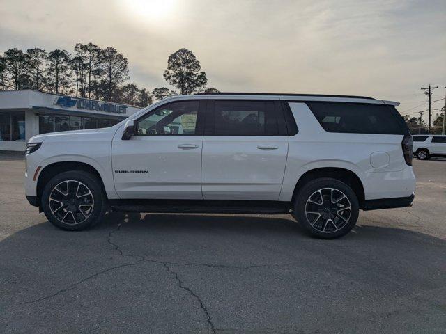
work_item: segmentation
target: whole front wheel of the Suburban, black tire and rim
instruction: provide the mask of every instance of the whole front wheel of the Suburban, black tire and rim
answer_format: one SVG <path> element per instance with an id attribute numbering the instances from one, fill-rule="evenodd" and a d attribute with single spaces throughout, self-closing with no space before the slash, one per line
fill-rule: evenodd
<path id="1" fill-rule="evenodd" d="M 40 204 L 53 225 L 62 230 L 80 231 L 102 220 L 106 212 L 105 201 L 98 177 L 82 170 L 72 170 L 49 180 Z"/>

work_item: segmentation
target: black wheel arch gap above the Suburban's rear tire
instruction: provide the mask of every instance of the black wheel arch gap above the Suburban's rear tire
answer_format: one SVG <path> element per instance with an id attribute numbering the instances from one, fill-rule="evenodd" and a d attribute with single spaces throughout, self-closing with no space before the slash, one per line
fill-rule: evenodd
<path id="1" fill-rule="evenodd" d="M 357 196 L 357 200 L 360 203 L 360 209 L 364 207 L 365 191 L 364 184 L 362 184 L 360 177 L 358 177 L 357 174 L 352 170 L 339 167 L 321 167 L 307 170 L 307 172 L 299 177 L 298 182 L 295 184 L 291 201 L 295 202 L 295 198 L 296 196 L 298 196 L 299 190 L 302 189 L 302 186 L 304 186 L 311 180 L 315 180 L 321 177 L 331 177 L 335 180 L 339 180 L 341 182 L 344 182 L 345 184 L 348 184 L 348 186 L 353 189 Z"/>

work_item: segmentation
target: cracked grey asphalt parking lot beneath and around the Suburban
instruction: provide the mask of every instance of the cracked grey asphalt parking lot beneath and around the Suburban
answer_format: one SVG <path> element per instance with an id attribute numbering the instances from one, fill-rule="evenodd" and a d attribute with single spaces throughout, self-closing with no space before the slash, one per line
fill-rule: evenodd
<path id="1" fill-rule="evenodd" d="M 109 215 L 63 232 L 0 156 L 1 333 L 445 333 L 446 160 L 414 161 L 413 207 L 343 239 L 291 216 Z"/>

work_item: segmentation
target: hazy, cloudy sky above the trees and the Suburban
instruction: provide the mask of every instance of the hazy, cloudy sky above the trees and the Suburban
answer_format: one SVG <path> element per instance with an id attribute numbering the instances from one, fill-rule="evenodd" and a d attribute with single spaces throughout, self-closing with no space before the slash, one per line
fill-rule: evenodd
<path id="1" fill-rule="evenodd" d="M 445 97 L 445 0 L 0 0 L 0 17 L 0 51 L 115 47 L 150 90 L 185 47 L 221 91 L 367 95 L 410 116 L 421 87 Z"/>

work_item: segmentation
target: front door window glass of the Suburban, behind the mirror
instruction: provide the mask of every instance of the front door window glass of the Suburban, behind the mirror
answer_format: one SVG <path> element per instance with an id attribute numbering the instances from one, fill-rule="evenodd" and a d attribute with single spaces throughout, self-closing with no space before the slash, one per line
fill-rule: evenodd
<path id="1" fill-rule="evenodd" d="M 197 134 L 199 101 L 165 104 L 138 121 L 138 135 Z"/>

